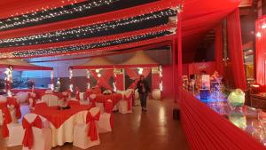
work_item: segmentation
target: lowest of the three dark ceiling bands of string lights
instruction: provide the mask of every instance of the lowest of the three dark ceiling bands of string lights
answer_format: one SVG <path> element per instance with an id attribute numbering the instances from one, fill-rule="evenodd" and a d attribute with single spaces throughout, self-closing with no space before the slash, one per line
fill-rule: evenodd
<path id="1" fill-rule="evenodd" d="M 102 47 L 107 47 L 107 46 L 123 44 L 123 43 L 133 43 L 133 42 L 156 38 L 160 36 L 168 36 L 171 34 L 172 32 L 168 30 L 164 30 L 160 32 L 148 33 L 148 34 L 140 35 L 140 36 L 131 36 L 131 37 L 126 37 L 126 38 L 121 38 L 121 39 L 116 39 L 116 40 L 106 41 L 106 42 L 100 42 L 100 43 L 80 44 L 80 45 L 72 45 L 72 46 L 66 46 L 66 47 L 41 49 L 41 50 L 35 50 L 35 51 L 19 51 L 19 52 L 13 52 L 12 54 L 14 57 L 29 57 L 29 56 L 66 53 L 70 51 L 83 51 L 83 50 L 102 48 Z"/>

